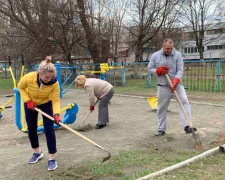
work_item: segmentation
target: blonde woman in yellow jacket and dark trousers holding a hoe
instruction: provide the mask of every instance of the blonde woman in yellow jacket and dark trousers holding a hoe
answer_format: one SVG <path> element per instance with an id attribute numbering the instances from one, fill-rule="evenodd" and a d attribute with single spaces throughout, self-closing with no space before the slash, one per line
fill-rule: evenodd
<path id="1" fill-rule="evenodd" d="M 33 164 L 43 157 L 37 134 L 38 112 L 34 110 L 34 107 L 53 116 L 56 124 L 61 121 L 59 117 L 59 84 L 56 79 L 56 68 L 51 63 L 51 57 L 47 56 L 40 63 L 37 72 L 30 72 L 24 75 L 18 83 L 18 89 L 25 102 L 24 110 L 28 126 L 28 136 L 31 147 L 34 149 L 29 163 Z M 48 170 L 55 170 L 57 168 L 57 162 L 54 159 L 54 154 L 57 150 L 54 122 L 43 116 L 43 124 L 49 153 Z"/>

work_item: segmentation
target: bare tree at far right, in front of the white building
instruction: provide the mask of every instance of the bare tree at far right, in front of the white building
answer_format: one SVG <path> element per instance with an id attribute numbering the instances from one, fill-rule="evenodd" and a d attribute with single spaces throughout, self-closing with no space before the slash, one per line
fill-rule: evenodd
<path id="1" fill-rule="evenodd" d="M 204 45 L 221 37 L 221 33 L 218 33 L 206 40 L 204 35 L 221 22 L 223 11 L 223 0 L 186 0 L 181 6 L 180 23 L 190 36 L 193 34 L 200 59 L 204 59 Z"/>

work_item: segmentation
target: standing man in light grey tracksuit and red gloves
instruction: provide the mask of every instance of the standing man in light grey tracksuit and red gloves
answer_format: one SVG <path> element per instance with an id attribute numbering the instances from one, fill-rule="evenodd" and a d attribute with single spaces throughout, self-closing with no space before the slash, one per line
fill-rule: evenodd
<path id="1" fill-rule="evenodd" d="M 157 115 L 158 115 L 158 131 L 156 136 L 162 136 L 166 133 L 167 110 L 172 97 L 173 91 L 176 90 L 185 111 L 191 121 L 191 108 L 184 89 L 180 82 L 183 76 L 183 58 L 174 47 L 173 40 L 167 38 L 162 44 L 162 49 L 155 52 L 149 61 L 148 71 L 157 78 Z M 173 86 L 170 87 L 165 74 L 168 74 Z M 188 126 L 182 109 L 179 106 L 179 113 L 184 127 L 184 131 L 192 133 L 192 129 Z"/>

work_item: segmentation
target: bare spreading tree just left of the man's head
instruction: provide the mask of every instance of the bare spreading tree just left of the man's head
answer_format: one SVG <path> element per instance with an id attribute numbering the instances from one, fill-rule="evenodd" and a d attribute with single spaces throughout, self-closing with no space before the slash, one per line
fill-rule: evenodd
<path id="1" fill-rule="evenodd" d="M 143 47 L 148 46 L 159 33 L 168 15 L 172 12 L 180 0 L 136 0 L 131 11 L 133 25 L 128 28 L 132 35 L 135 61 L 142 60 Z"/>

